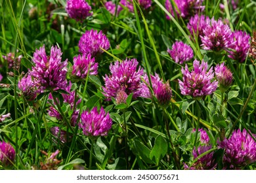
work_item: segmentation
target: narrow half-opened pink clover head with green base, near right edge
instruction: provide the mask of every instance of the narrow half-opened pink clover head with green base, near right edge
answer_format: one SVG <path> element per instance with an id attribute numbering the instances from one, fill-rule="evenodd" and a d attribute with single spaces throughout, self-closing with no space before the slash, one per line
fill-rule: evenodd
<path id="1" fill-rule="evenodd" d="M 224 62 L 221 65 L 216 65 L 215 76 L 219 82 L 220 90 L 226 92 L 232 84 L 233 76 L 231 71 L 224 65 Z"/>

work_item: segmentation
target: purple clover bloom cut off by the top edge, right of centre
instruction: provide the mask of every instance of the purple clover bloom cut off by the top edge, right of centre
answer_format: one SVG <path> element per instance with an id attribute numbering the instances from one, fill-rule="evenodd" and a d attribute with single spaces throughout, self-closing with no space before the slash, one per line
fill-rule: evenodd
<path id="1" fill-rule="evenodd" d="M 177 16 L 181 16 L 182 18 L 188 18 L 190 16 L 194 16 L 194 14 L 198 14 L 198 12 L 202 12 L 205 7 L 202 6 L 201 0 L 174 0 L 177 8 L 175 11 Z M 165 1 L 165 8 L 174 16 L 173 7 L 171 6 L 171 0 Z M 170 20 L 170 17 L 166 15 L 167 20 Z"/>

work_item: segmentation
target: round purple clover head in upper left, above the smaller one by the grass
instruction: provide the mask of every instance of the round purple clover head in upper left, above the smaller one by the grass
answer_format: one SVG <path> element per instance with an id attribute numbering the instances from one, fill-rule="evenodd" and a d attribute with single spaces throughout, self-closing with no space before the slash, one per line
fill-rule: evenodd
<path id="1" fill-rule="evenodd" d="M 102 33 L 102 31 L 96 31 L 91 29 L 91 31 L 86 31 L 79 40 L 79 52 L 82 54 L 91 54 L 92 57 L 97 56 L 98 54 L 102 54 L 104 50 L 108 50 L 110 48 L 110 41 L 106 35 Z"/>

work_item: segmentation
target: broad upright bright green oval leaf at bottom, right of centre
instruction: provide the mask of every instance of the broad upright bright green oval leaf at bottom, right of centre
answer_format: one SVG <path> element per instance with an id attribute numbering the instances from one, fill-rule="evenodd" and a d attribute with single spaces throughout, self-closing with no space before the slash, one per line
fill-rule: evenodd
<path id="1" fill-rule="evenodd" d="M 165 156 L 166 153 L 167 142 L 161 135 L 158 135 L 158 137 L 156 137 L 154 147 L 150 152 L 150 159 L 152 159 L 158 165 L 159 161 Z"/>

